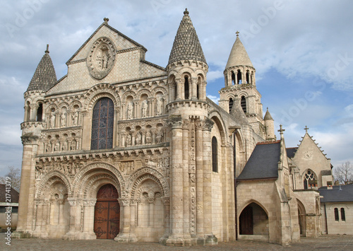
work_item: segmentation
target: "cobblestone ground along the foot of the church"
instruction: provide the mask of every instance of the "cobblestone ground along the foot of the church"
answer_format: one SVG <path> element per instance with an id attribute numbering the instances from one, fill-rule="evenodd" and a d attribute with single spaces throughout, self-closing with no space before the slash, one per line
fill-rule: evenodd
<path id="1" fill-rule="evenodd" d="M 12 239 L 11 246 L 6 245 L 5 235 L 0 234 L 0 250 L 28 250 L 28 251 L 95 251 L 95 250 L 353 250 L 353 235 L 322 235 L 319 238 L 301 238 L 300 243 L 289 247 L 261 243 L 250 240 L 239 240 L 231 243 L 219 243 L 206 247 L 166 247 L 158 243 L 116 243 L 114 240 L 43 240 L 43 239 Z"/>

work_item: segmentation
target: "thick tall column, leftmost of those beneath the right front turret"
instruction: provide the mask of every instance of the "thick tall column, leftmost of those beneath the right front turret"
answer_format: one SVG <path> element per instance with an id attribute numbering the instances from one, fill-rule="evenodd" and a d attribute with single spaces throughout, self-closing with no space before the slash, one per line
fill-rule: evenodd
<path id="1" fill-rule="evenodd" d="M 184 246 L 184 214 L 183 214 L 183 131 L 181 117 L 169 119 L 172 126 L 172 142 L 170 151 L 170 235 L 166 245 Z"/>

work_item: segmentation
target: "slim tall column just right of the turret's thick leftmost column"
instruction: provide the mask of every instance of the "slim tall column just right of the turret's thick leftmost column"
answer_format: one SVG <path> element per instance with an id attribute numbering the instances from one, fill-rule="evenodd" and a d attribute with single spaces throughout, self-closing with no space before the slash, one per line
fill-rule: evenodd
<path id="1" fill-rule="evenodd" d="M 190 235 L 190 183 L 189 183 L 189 126 L 190 122 L 184 120 L 183 123 L 183 214 L 184 214 L 184 245 L 191 245 Z"/>

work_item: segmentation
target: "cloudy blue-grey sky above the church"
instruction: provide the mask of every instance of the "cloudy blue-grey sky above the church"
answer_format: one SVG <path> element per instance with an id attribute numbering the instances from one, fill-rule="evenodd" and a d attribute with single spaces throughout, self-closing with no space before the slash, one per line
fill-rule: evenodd
<path id="1" fill-rule="evenodd" d="M 188 8 L 209 71 L 207 95 L 217 101 L 223 71 L 239 38 L 256 68 L 256 87 L 280 124 L 287 147 L 304 127 L 333 166 L 353 163 L 353 1 L 349 0 L 0 0 L 0 176 L 20 168 L 23 93 L 46 45 L 57 78 L 66 61 L 100 26 L 109 25 L 148 49 L 146 60 L 167 66 Z"/>

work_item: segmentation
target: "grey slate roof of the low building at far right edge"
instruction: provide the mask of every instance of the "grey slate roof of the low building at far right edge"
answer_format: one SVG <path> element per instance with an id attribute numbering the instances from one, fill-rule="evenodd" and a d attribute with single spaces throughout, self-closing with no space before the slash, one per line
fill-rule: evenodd
<path id="1" fill-rule="evenodd" d="M 318 189 L 321 202 L 353 202 L 353 185 L 333 186 L 332 189 L 320 187 Z"/>

